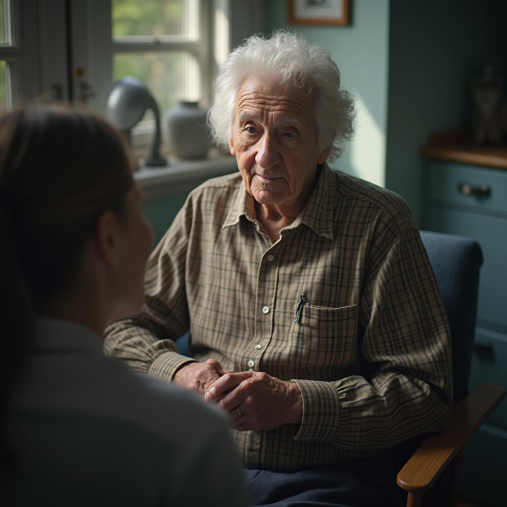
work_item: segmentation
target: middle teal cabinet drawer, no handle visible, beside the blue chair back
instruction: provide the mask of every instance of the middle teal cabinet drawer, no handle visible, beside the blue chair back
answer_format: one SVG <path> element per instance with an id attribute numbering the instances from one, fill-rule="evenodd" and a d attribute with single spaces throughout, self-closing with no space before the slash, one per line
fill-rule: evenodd
<path id="1" fill-rule="evenodd" d="M 473 210 L 472 210 L 473 211 Z M 507 220 L 475 212 L 429 206 L 426 228 L 475 239 L 484 264 L 479 275 L 479 325 L 496 324 L 507 330 Z"/>

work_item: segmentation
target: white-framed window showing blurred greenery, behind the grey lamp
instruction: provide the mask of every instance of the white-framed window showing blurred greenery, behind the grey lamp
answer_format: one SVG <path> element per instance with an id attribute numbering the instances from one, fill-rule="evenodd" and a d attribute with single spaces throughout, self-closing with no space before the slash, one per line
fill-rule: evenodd
<path id="1" fill-rule="evenodd" d="M 144 83 L 159 106 L 163 131 L 164 113 L 178 100 L 209 105 L 209 5 L 206 0 L 111 2 L 113 81 L 132 76 Z M 132 132 L 139 155 L 149 149 L 153 130 L 149 111 Z"/>

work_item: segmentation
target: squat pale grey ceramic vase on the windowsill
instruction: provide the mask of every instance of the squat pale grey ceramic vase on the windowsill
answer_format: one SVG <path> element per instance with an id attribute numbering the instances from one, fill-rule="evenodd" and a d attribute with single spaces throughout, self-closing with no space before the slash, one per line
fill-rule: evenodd
<path id="1" fill-rule="evenodd" d="M 207 111 L 198 102 L 180 100 L 165 114 L 169 147 L 178 158 L 205 158 L 211 147 Z"/>

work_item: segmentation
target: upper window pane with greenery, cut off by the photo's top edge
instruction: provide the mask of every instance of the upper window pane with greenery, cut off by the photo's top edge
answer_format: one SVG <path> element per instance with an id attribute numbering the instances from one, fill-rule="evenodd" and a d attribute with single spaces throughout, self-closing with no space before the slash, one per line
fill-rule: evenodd
<path id="1" fill-rule="evenodd" d="M 186 35 L 185 0 L 113 0 L 113 37 Z"/>

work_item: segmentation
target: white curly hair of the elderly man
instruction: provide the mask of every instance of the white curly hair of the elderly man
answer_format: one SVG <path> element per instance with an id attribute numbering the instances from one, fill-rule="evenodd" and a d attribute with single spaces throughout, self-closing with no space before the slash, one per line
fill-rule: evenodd
<path id="1" fill-rule="evenodd" d="M 315 122 L 319 152 L 330 148 L 337 159 L 345 141 L 354 134 L 352 96 L 340 88 L 340 71 L 328 50 L 310 46 L 297 32 L 276 30 L 268 38 L 251 35 L 235 48 L 214 82 L 215 103 L 208 124 L 216 144 L 228 150 L 241 84 L 250 76 L 279 79 L 281 86 L 305 88 L 315 97 Z"/>

